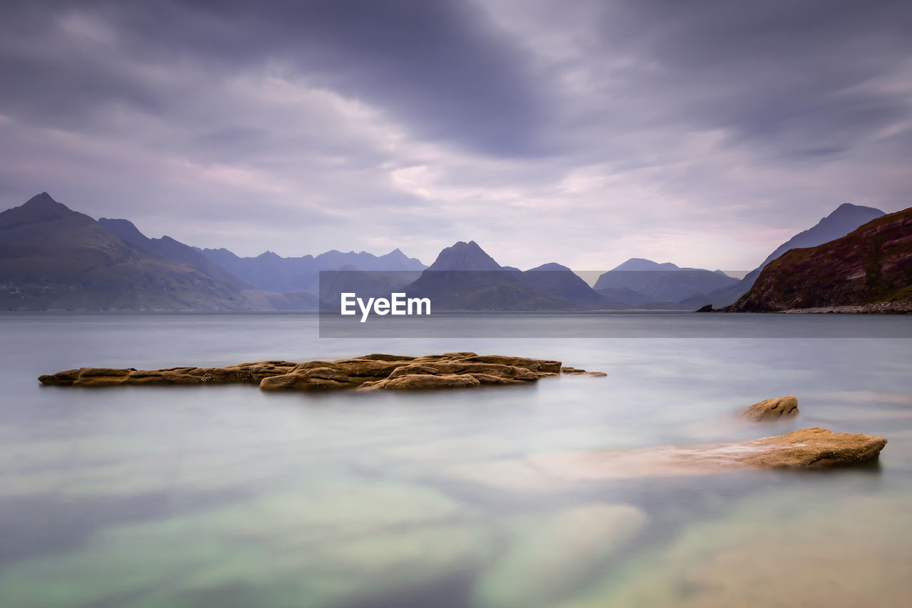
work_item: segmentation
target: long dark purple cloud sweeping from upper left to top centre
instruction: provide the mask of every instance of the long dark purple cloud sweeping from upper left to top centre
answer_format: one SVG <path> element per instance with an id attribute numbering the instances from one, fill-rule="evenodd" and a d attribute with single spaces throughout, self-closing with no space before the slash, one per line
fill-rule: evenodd
<path id="1" fill-rule="evenodd" d="M 189 64 L 207 78 L 272 62 L 367 100 L 421 137 L 477 152 L 534 153 L 537 126 L 546 120 L 546 89 L 531 79 L 523 56 L 479 10 L 458 0 L 89 1 L 44 8 L 39 13 L 28 3 L 6 22 L 11 43 L 0 58 L 5 81 L 18 83 L 17 110 L 33 117 L 83 120 L 112 102 L 163 114 L 181 104 L 185 83 L 131 69 L 134 62 L 161 69 Z M 119 44 L 87 50 L 61 39 L 59 22 L 67 17 L 98 19 Z"/>

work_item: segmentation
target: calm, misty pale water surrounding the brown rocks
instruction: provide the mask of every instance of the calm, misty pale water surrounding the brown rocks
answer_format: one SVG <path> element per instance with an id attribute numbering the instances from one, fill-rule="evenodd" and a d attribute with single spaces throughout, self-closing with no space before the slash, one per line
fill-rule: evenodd
<path id="1" fill-rule="evenodd" d="M 516 317 L 504 337 L 368 340 L 319 339 L 309 315 L 0 316 L 0 606 L 908 605 L 912 341 L 871 336 L 907 336 L 912 317 L 793 317 L 803 337 L 762 338 L 782 316 L 728 315 L 741 337 L 673 337 L 707 317 Z M 572 337 L 508 337 L 543 323 Z M 606 323 L 657 337 L 586 338 Z M 868 337 L 810 337 L 834 334 Z M 316 395 L 36 382 L 462 350 L 608 377 Z M 797 420 L 734 415 L 788 393 Z M 879 467 L 812 474 L 568 486 L 496 466 L 807 426 L 889 444 Z"/>

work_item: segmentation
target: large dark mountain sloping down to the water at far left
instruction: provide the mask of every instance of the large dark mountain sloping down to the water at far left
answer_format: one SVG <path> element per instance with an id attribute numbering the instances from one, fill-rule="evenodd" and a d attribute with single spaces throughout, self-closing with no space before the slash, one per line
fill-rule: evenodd
<path id="1" fill-rule="evenodd" d="M 234 281 L 212 277 L 179 259 L 131 245 L 47 193 L 0 213 L 0 309 L 250 310 L 316 306 L 312 295 L 267 294 L 240 289 Z"/>

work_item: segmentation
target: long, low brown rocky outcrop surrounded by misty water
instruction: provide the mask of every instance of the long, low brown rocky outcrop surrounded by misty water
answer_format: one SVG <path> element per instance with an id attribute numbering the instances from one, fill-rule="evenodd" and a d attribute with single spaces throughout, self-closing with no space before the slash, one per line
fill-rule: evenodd
<path id="1" fill-rule="evenodd" d="M 565 368 L 567 373 L 605 375 Z M 369 354 L 337 361 L 264 361 L 228 367 L 135 370 L 87 367 L 38 377 L 56 386 L 122 384 L 256 384 L 264 391 L 424 390 L 535 382 L 562 372 L 561 362 L 474 352 L 409 357 Z"/>

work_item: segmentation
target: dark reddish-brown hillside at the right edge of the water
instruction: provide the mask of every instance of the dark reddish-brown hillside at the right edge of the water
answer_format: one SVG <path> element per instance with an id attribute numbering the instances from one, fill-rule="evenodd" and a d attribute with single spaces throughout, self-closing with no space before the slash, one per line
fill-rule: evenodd
<path id="1" fill-rule="evenodd" d="M 733 311 L 912 301 L 912 207 L 772 260 Z"/>

